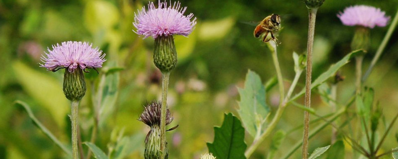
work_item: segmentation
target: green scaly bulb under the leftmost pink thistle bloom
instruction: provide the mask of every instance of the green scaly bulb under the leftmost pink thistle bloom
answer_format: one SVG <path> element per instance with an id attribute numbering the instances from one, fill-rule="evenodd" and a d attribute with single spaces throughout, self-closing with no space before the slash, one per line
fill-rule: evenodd
<path id="1" fill-rule="evenodd" d="M 79 101 L 83 98 L 86 94 L 86 81 L 82 69 L 76 69 L 73 72 L 65 70 L 63 90 L 66 98 L 71 101 Z"/>

